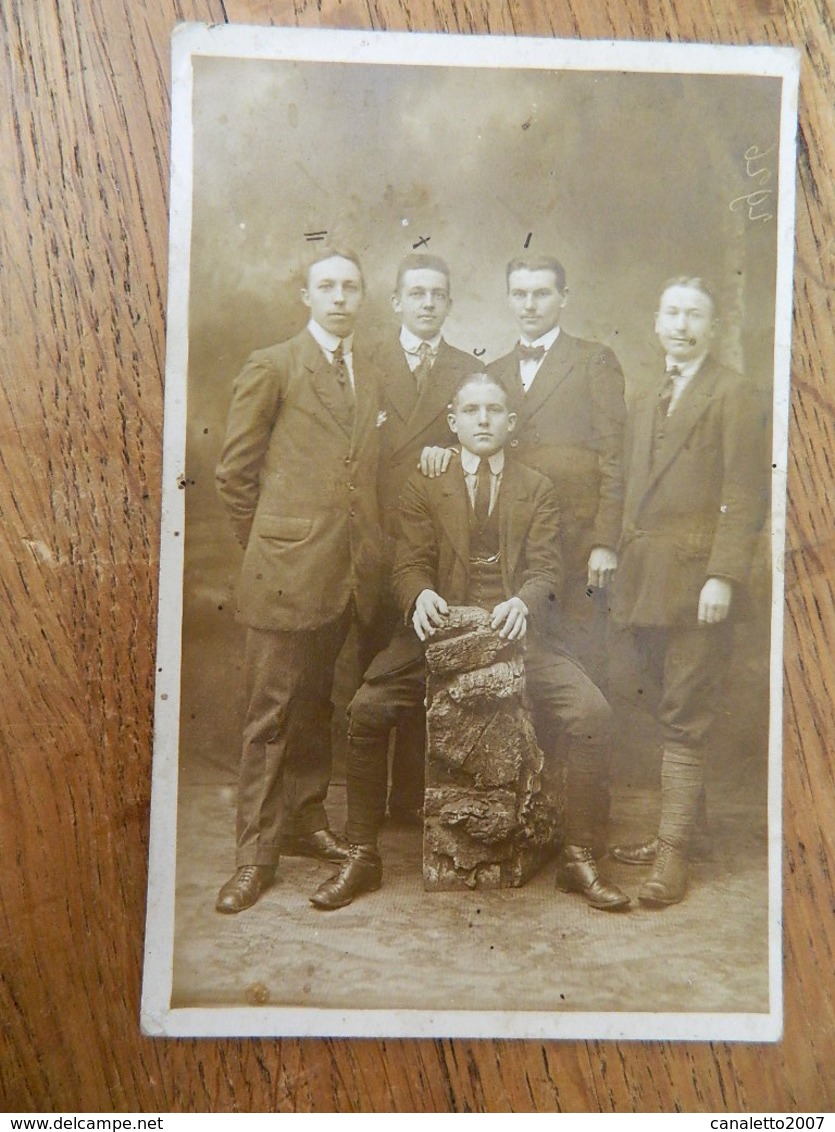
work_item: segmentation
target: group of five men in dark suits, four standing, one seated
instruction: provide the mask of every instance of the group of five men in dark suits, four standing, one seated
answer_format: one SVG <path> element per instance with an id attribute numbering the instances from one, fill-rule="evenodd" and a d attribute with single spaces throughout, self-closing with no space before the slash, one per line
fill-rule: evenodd
<path id="1" fill-rule="evenodd" d="M 217 909 L 255 903 L 281 855 L 338 864 L 311 897 L 319 909 L 380 886 L 389 734 L 399 726 L 389 808 L 414 813 L 423 644 L 450 604 L 482 606 L 501 635 L 526 640 L 540 743 L 548 756 L 558 735 L 567 765 L 558 886 L 628 908 L 596 861 L 612 743 L 595 683 L 601 593 L 661 687 L 657 835 L 612 855 L 652 866 L 643 902 L 680 901 L 768 484 L 768 408 L 709 352 L 711 290 L 686 276 L 664 286 L 665 374 L 629 419 L 613 352 L 560 326 L 557 259 L 508 265 L 520 337 L 487 368 L 442 337 L 439 257 L 401 264 L 399 338 L 367 358 L 353 343 L 363 292 L 356 257 L 324 249 L 302 289 L 308 326 L 253 353 L 234 385 L 217 486 L 244 547 L 247 710 L 236 868 Z M 354 619 L 364 677 L 348 709 L 346 843 L 325 800 L 334 668 Z"/>

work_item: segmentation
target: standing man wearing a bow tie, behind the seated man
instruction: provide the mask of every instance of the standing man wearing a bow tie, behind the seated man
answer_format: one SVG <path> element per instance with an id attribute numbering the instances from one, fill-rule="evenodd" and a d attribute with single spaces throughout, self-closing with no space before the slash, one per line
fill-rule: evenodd
<path id="1" fill-rule="evenodd" d="M 568 289 L 558 259 L 513 259 L 506 277 L 520 337 L 489 372 L 519 392 L 518 424 L 510 441 L 515 456 L 546 475 L 557 492 L 566 641 L 593 677 L 602 679 L 600 611 L 595 616 L 588 591 L 606 586 L 618 566 L 623 374 L 608 346 L 576 338 L 560 326 Z"/>

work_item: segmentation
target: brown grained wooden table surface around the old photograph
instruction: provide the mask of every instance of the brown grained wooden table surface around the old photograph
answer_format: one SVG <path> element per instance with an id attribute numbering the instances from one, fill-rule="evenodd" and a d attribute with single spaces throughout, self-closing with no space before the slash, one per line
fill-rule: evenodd
<path id="1" fill-rule="evenodd" d="M 139 1034 L 177 20 L 802 50 L 777 1045 Z M 0 0 L 0 1105 L 832 1110 L 835 11 L 824 0 Z"/>

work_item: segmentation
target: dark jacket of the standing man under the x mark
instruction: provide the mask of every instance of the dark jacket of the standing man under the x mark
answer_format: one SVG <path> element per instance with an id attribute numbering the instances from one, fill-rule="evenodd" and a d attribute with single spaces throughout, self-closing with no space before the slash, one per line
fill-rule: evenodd
<path id="1" fill-rule="evenodd" d="M 477 359 L 441 338 L 431 374 L 419 397 L 399 340 L 377 349 L 373 362 L 381 375 L 380 393 L 386 412 L 386 421 L 380 428 L 380 516 L 394 555 L 397 504 L 403 486 L 418 466 L 423 448 L 446 448 L 455 443 L 447 423 L 447 406 L 458 381 L 481 367 Z"/>

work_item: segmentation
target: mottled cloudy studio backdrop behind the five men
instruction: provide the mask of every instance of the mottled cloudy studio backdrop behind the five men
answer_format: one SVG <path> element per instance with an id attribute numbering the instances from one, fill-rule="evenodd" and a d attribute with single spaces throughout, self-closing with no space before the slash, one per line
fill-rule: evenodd
<path id="1" fill-rule="evenodd" d="M 180 812 L 187 829 L 199 821 L 192 788 L 225 791 L 213 829 L 224 851 L 207 880 L 206 924 L 233 861 L 243 653 L 233 618 L 241 550 L 215 496 L 214 466 L 247 355 L 307 321 L 299 267 L 315 241 L 327 233 L 359 252 L 367 295 L 356 338 L 369 342 L 397 332 L 389 299 L 398 260 L 413 250 L 444 256 L 453 292 L 445 336 L 484 361 L 517 337 L 507 261 L 525 248 L 558 256 L 569 288 L 562 325 L 614 350 L 628 398 L 662 365 L 653 329 L 662 284 L 705 276 L 721 303 L 716 352 L 771 388 L 780 97 L 774 78 L 195 60 Z M 728 749 L 764 799 L 766 539 L 763 546 L 761 616 L 740 632 L 734 666 L 746 707 L 729 710 L 726 722 Z M 623 718 L 616 813 L 619 781 L 657 777 L 651 758 L 643 771 L 631 763 L 645 721 L 630 698 L 628 663 L 625 671 L 612 677 Z M 344 660 L 337 729 L 355 678 Z M 337 778 L 338 748 L 337 734 Z M 193 851 L 179 840 L 179 871 Z M 765 906 L 765 848 L 757 883 Z M 182 941 L 200 926 L 178 916 L 182 957 L 190 945 Z M 725 1009 L 765 1009 L 765 911 L 757 931 L 760 997 L 751 992 Z M 179 972 L 188 998 L 182 962 Z M 541 987 L 530 998 L 549 1009 Z"/>

